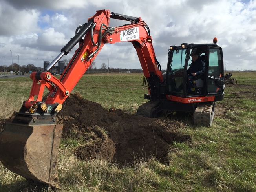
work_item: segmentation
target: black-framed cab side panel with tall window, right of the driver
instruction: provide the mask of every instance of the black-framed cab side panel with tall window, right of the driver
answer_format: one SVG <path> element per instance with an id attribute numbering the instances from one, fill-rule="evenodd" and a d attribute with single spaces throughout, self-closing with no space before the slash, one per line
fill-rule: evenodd
<path id="1" fill-rule="evenodd" d="M 220 47 L 208 48 L 207 95 L 222 95 L 224 86 L 223 54 Z"/>

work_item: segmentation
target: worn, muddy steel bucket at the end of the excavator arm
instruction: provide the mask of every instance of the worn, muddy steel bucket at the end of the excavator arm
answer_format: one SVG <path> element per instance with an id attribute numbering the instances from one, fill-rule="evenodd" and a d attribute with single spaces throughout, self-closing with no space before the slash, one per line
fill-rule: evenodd
<path id="1" fill-rule="evenodd" d="M 0 161 L 26 179 L 59 188 L 57 154 L 62 125 L 5 123 L 0 133 Z"/>

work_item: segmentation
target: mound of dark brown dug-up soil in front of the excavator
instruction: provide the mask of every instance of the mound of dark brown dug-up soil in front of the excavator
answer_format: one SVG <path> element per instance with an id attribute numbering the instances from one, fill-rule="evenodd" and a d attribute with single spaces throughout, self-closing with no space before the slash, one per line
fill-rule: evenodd
<path id="1" fill-rule="evenodd" d="M 79 93 L 66 99 L 58 124 L 63 124 L 62 137 L 86 140 L 74 152 L 80 159 L 100 157 L 122 165 L 152 155 L 166 162 L 169 144 L 191 139 L 179 132 L 185 128 L 182 123 L 129 115 L 120 109 L 107 111 Z"/>

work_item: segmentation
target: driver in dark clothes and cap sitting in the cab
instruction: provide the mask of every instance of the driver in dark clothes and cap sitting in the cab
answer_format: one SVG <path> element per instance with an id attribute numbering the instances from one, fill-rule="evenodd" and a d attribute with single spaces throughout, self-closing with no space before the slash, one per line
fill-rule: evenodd
<path id="1" fill-rule="evenodd" d="M 190 93 L 193 86 L 193 80 L 201 78 L 205 73 L 205 62 L 200 60 L 199 53 L 196 53 L 196 49 L 190 54 L 192 62 L 187 70 L 187 93 Z"/>

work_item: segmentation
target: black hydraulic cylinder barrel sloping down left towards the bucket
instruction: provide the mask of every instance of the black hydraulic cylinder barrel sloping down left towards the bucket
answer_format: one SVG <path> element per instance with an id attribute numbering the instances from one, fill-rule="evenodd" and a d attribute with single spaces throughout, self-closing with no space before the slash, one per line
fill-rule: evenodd
<path id="1" fill-rule="evenodd" d="M 71 40 L 60 50 L 64 52 L 64 55 L 67 55 L 73 47 L 81 40 L 82 37 L 89 31 L 93 25 L 93 19 L 89 20 L 84 27 L 80 28 L 80 31 L 73 37 Z"/>

